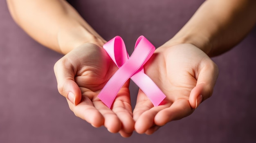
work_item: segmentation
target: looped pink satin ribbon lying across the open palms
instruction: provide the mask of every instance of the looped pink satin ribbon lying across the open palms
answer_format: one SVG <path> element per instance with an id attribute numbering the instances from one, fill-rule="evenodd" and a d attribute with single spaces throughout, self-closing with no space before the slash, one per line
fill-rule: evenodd
<path id="1" fill-rule="evenodd" d="M 154 106 L 158 106 L 164 100 L 164 93 L 144 73 L 143 66 L 155 51 L 153 44 L 144 36 L 138 38 L 130 57 L 123 39 L 119 36 L 104 44 L 103 48 L 119 68 L 98 95 L 108 108 L 112 106 L 117 93 L 129 78 L 148 96 Z"/>

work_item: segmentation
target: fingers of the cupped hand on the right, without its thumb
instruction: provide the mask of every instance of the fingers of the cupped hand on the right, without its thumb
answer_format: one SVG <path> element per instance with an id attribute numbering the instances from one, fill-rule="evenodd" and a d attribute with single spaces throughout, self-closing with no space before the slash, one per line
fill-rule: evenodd
<path id="1" fill-rule="evenodd" d="M 183 92 L 173 91 L 172 93 L 173 95 L 182 95 Z M 188 99 L 177 99 L 172 103 L 170 99 L 166 98 L 162 105 L 153 107 L 146 95 L 139 90 L 133 111 L 135 130 L 139 134 L 153 134 L 166 123 L 187 117 L 192 112 Z"/>

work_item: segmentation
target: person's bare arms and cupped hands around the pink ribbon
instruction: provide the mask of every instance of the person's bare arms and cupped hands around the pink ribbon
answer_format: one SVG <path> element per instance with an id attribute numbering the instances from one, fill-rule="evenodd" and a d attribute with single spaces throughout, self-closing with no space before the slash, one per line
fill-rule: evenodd
<path id="1" fill-rule="evenodd" d="M 54 72 L 58 91 L 74 114 L 124 137 L 133 130 L 153 134 L 166 123 L 189 116 L 212 95 L 218 67 L 210 57 L 234 47 L 256 23 L 255 0 L 205 1 L 144 66 L 166 99 L 154 107 L 139 90 L 132 112 L 129 82 L 111 109 L 97 98 L 117 67 L 102 48 L 106 41 L 73 7 L 64 0 L 7 0 L 7 4 L 13 19 L 31 37 L 65 55 Z"/>

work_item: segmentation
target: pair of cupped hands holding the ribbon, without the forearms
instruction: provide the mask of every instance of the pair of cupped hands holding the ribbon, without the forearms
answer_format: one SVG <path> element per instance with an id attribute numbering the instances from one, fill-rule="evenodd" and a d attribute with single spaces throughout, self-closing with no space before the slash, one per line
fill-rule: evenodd
<path id="1" fill-rule="evenodd" d="M 58 91 L 67 98 L 77 117 L 94 127 L 104 125 L 109 132 L 129 137 L 153 134 L 166 123 L 190 115 L 212 95 L 218 77 L 216 64 L 192 44 L 164 44 L 144 65 L 144 71 L 166 98 L 153 106 L 139 89 L 132 111 L 129 81 L 117 94 L 111 108 L 97 96 L 118 67 L 96 44 L 82 44 L 58 60 L 54 72 Z"/>

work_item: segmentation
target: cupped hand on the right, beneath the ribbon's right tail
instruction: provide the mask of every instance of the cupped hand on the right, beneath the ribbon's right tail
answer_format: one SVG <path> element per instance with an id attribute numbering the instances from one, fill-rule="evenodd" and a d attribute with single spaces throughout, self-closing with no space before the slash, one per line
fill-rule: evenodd
<path id="1" fill-rule="evenodd" d="M 140 134 L 153 134 L 160 126 L 189 116 L 212 95 L 218 77 L 216 64 L 192 44 L 157 48 L 144 69 L 166 98 L 154 107 L 139 90 L 133 118 Z"/>

